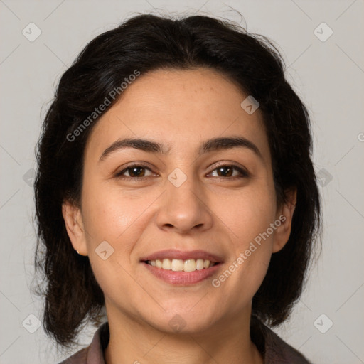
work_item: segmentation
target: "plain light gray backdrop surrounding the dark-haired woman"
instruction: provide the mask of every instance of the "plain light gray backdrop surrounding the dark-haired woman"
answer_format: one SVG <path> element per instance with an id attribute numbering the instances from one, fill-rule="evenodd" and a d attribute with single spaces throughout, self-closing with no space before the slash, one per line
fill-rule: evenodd
<path id="1" fill-rule="evenodd" d="M 248 31 L 282 50 L 287 77 L 311 113 L 314 164 L 322 177 L 323 251 L 291 319 L 276 331 L 314 363 L 364 363 L 363 0 L 0 0 L 1 364 L 65 358 L 42 327 L 35 333 L 24 328 L 36 325 L 28 315 L 41 318 L 42 309 L 29 290 L 34 146 L 60 75 L 92 38 L 137 12 L 199 9 L 240 22 L 231 8 L 244 16 Z M 31 32 L 31 22 L 42 32 L 33 42 L 22 34 L 24 28 Z M 322 22 L 333 30 L 324 42 L 314 34 Z M 321 38 L 328 34 L 322 26 L 318 31 Z M 333 326 L 321 333 L 329 320 Z M 81 336 L 85 346 L 93 331 L 87 327 Z"/>

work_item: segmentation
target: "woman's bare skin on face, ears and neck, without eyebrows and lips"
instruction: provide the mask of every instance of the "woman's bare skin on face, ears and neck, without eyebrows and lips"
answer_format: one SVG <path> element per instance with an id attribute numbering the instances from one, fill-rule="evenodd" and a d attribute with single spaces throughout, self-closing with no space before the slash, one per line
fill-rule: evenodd
<path id="1" fill-rule="evenodd" d="M 129 85 L 92 129 L 81 204 L 65 201 L 63 217 L 73 247 L 88 255 L 105 294 L 107 364 L 263 363 L 250 340 L 252 297 L 272 253 L 289 239 L 296 192 L 287 194 L 287 204 L 277 205 L 262 115 L 240 107 L 245 97 L 213 70 L 156 70 Z M 125 137 L 158 141 L 171 150 L 164 155 L 120 149 L 99 161 L 105 149 Z M 262 158 L 241 147 L 198 156 L 200 143 L 215 137 L 245 137 Z M 140 177 L 130 169 L 126 179 L 114 176 L 131 162 L 147 164 L 140 174 L 144 180 L 136 181 Z M 232 164 L 250 175 L 239 178 L 234 169 L 225 176 L 216 169 Z M 175 168 L 187 177 L 179 187 L 168 181 Z M 284 223 L 213 287 L 211 280 L 280 215 Z M 103 241 L 114 249 L 106 260 L 95 253 Z M 169 248 L 206 250 L 222 257 L 223 264 L 203 282 L 175 287 L 140 262 Z M 186 324 L 178 332 L 169 325 L 176 314 Z"/>

